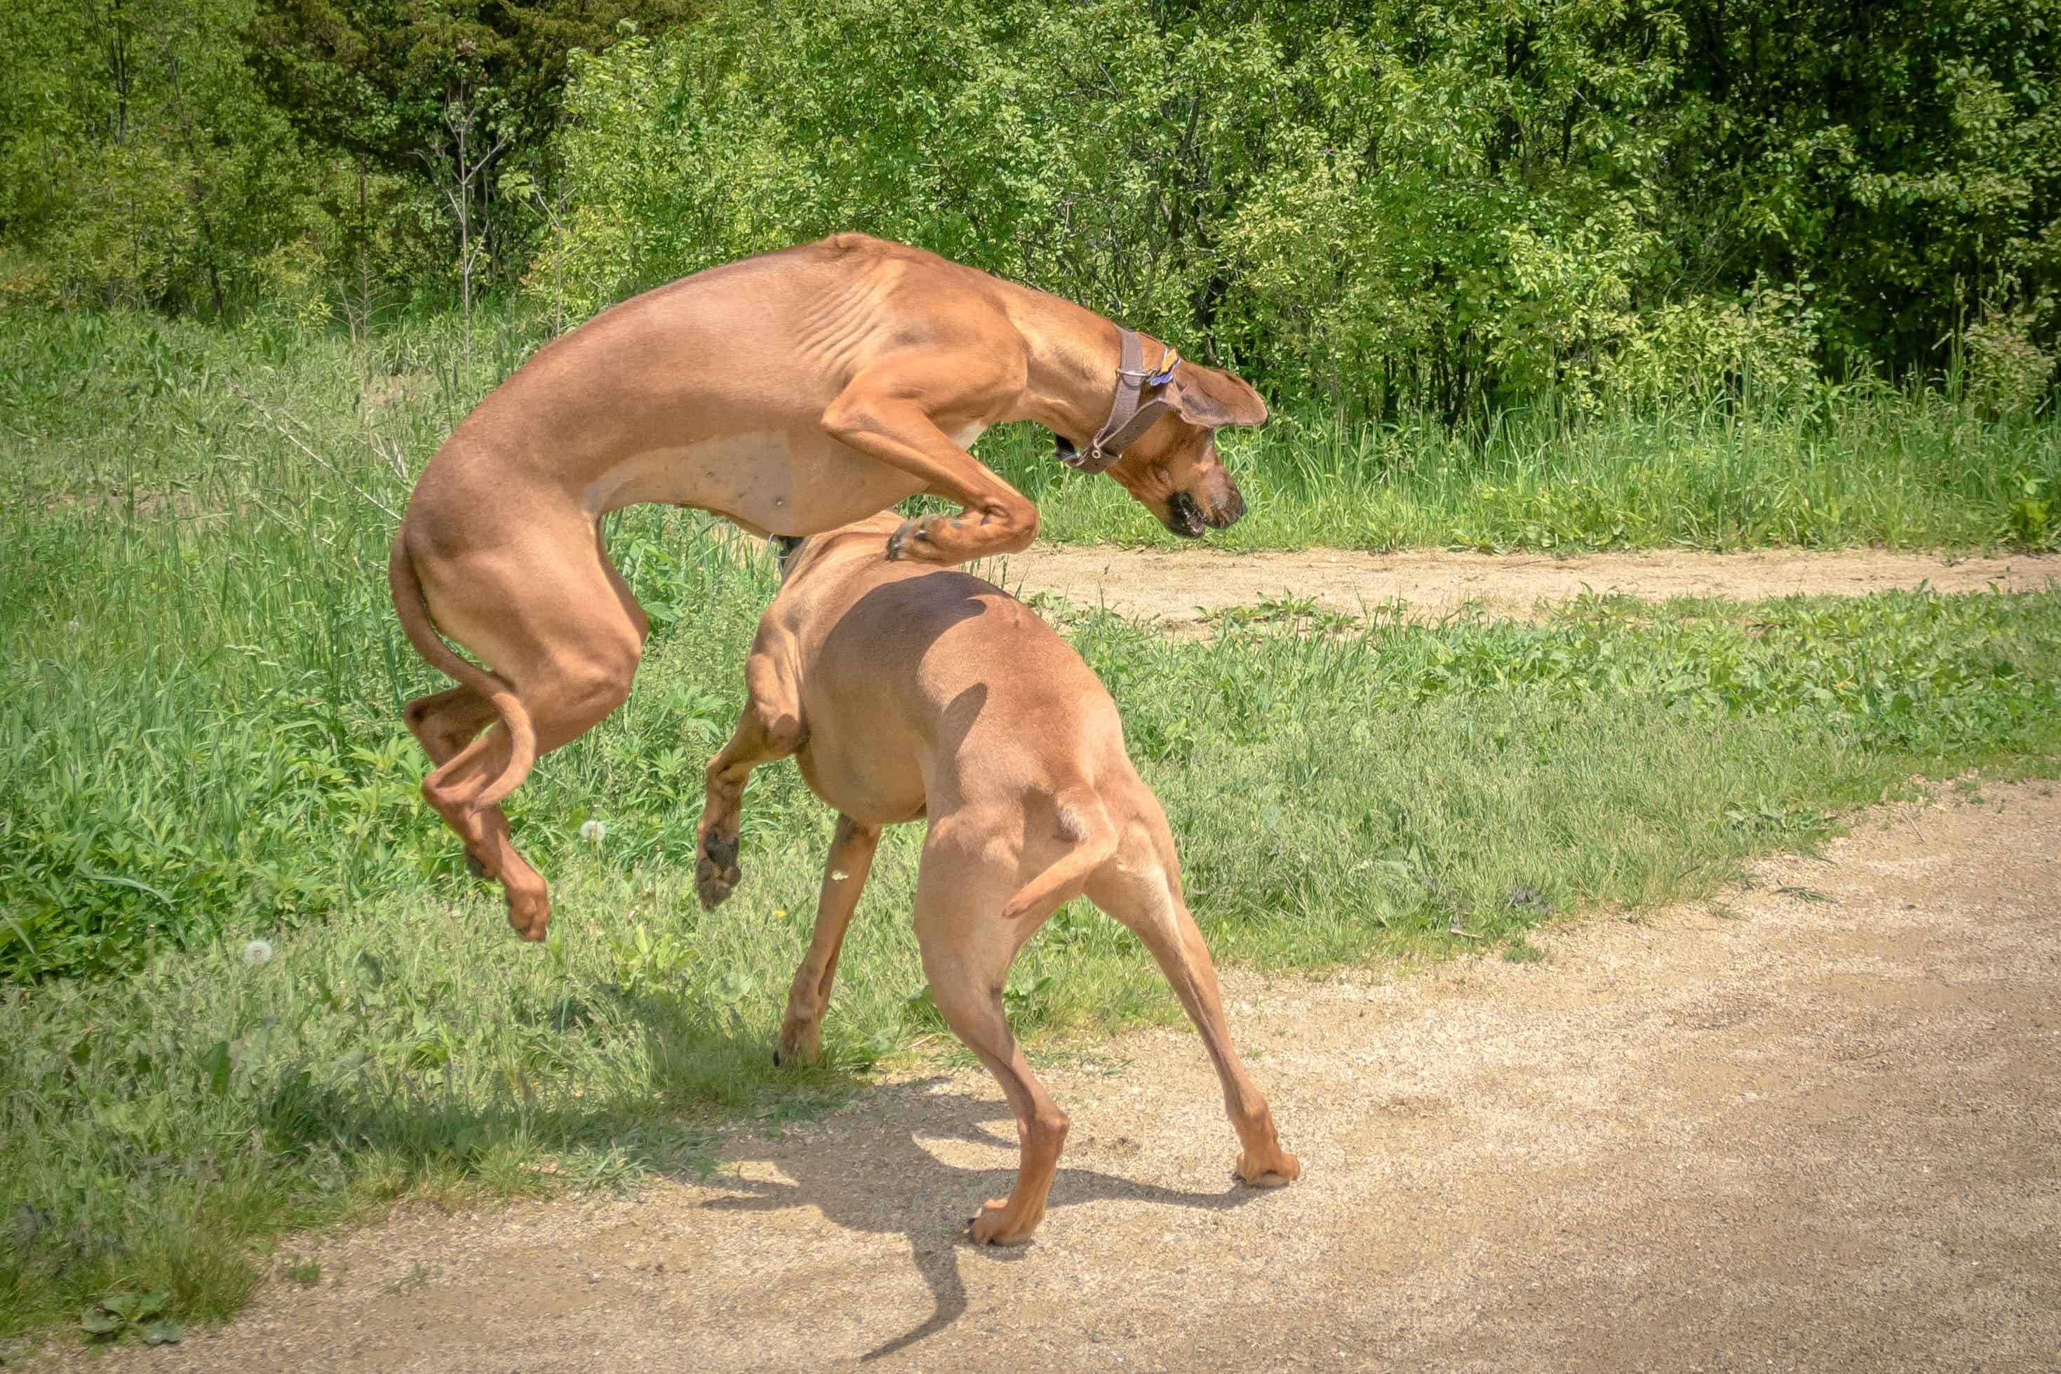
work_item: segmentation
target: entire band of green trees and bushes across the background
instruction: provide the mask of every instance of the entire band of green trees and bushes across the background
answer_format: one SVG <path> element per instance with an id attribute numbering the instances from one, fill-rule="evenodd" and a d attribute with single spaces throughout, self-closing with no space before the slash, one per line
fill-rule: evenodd
<path id="1" fill-rule="evenodd" d="M 526 280 L 563 325 L 866 229 L 1350 418 L 2024 412 L 2057 2 L 25 0 L 0 293 L 363 328 Z"/>

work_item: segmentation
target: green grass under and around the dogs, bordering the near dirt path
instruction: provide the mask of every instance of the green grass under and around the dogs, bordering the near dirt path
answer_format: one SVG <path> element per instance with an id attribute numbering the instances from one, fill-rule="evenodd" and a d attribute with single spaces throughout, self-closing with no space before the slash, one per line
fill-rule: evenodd
<path id="1" fill-rule="evenodd" d="M 167 1318 L 223 1316 L 295 1275 L 268 1252 L 293 1228 L 703 1168 L 713 1121 L 777 1131 L 946 1042 L 901 828 L 826 1063 L 771 1067 L 829 816 L 791 766 L 763 770 L 746 884 L 701 915 L 701 764 L 771 571 L 695 515 L 614 523 L 655 624 L 637 692 L 511 803 L 556 884 L 542 948 L 416 797 L 396 711 L 439 680 L 392 624 L 379 505 L 530 342 L 484 330 L 468 369 L 433 325 L 357 352 L 262 321 L 0 330 L 0 1333 L 159 1290 Z M 2049 443 L 1966 439 L 2020 441 Z M 1070 490 L 1055 523 L 1092 534 Z M 1950 494 L 1929 501 L 1970 531 L 1995 519 Z M 1063 628 L 1123 707 L 1212 946 L 1265 968 L 1525 960 L 1554 913 L 1711 892 L 1913 772 L 2042 768 L 2061 744 L 2055 593 Z M 1177 1016 L 1086 906 L 1037 937 L 1010 1005 L 1045 1042 Z"/>

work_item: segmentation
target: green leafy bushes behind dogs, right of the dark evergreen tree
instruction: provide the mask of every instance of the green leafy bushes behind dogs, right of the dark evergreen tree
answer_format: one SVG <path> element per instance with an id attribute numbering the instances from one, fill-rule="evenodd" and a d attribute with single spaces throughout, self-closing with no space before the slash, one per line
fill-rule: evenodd
<path id="1" fill-rule="evenodd" d="M 1375 414 L 1944 367 L 1979 319 L 2038 393 L 2049 8 L 740 2 L 579 64 L 544 262 L 592 309 L 868 229 Z"/>

